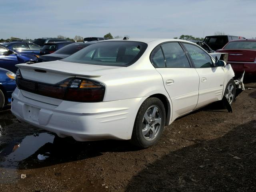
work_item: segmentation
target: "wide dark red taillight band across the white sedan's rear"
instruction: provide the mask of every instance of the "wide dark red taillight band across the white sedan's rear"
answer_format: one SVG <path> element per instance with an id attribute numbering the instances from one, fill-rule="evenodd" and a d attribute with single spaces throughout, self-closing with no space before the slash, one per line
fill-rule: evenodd
<path id="1" fill-rule="evenodd" d="M 84 78 L 68 78 L 58 84 L 46 84 L 23 79 L 20 70 L 16 73 L 19 89 L 35 94 L 74 102 L 101 102 L 105 86 L 100 82 Z"/>

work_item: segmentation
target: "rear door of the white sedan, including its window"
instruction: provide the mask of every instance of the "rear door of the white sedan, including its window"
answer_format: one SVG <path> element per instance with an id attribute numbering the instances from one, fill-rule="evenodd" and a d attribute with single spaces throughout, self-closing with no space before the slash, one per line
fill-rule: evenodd
<path id="1" fill-rule="evenodd" d="M 198 100 L 199 76 L 180 44 L 168 42 L 157 46 L 151 62 L 161 74 L 172 101 L 172 120 L 192 111 Z"/>

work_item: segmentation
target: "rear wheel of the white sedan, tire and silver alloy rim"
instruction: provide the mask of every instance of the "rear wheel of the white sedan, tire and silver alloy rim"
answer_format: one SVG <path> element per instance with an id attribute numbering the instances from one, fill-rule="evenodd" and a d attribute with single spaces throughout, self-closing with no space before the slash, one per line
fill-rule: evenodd
<path id="1" fill-rule="evenodd" d="M 139 148 L 148 148 L 160 139 L 164 131 L 166 112 L 160 99 L 147 98 L 140 106 L 132 131 L 131 142 Z"/>

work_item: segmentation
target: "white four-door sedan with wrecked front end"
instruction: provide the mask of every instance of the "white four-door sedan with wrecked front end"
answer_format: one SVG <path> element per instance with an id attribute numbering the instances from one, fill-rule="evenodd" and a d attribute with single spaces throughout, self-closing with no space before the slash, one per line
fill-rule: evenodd
<path id="1" fill-rule="evenodd" d="M 177 39 L 106 40 L 62 60 L 16 66 L 12 113 L 78 141 L 146 148 L 176 118 L 224 95 L 231 104 L 236 91 L 229 64 Z"/>

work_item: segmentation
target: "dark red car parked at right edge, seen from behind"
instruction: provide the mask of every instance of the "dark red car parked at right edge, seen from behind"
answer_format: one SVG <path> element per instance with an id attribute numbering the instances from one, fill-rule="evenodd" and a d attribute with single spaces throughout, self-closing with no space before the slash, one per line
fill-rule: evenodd
<path id="1" fill-rule="evenodd" d="M 235 74 L 245 70 L 246 75 L 256 75 L 256 39 L 230 41 L 216 52 L 228 53 L 228 63 Z"/>

